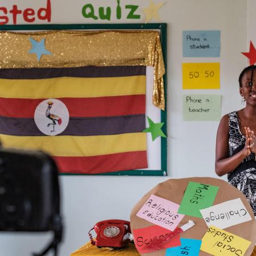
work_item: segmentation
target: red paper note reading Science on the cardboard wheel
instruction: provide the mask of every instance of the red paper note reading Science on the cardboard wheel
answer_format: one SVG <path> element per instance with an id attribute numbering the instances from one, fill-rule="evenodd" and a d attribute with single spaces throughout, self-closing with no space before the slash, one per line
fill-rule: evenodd
<path id="1" fill-rule="evenodd" d="M 148 226 L 147 228 L 134 229 L 134 243 L 139 253 L 152 253 L 154 250 L 149 250 L 147 247 L 156 240 L 163 240 L 163 238 L 170 233 L 170 230 L 164 229 L 160 226 Z M 166 249 L 179 245 L 181 245 L 180 237 L 177 236 L 167 243 L 164 243 L 163 248 Z"/>

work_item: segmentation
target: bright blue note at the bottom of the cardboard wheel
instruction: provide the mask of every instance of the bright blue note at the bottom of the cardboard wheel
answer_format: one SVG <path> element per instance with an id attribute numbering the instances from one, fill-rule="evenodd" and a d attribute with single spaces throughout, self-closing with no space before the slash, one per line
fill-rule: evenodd
<path id="1" fill-rule="evenodd" d="M 201 240 L 180 238 L 181 245 L 166 249 L 166 256 L 198 256 Z"/>

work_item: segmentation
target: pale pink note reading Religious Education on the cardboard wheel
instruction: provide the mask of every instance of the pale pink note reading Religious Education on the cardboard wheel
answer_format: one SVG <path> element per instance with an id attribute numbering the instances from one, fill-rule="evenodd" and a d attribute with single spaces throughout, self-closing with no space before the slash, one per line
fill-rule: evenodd
<path id="1" fill-rule="evenodd" d="M 177 213 L 177 209 L 179 209 L 179 204 L 151 195 L 136 215 L 146 221 L 173 231 L 184 217 L 183 214 Z"/>

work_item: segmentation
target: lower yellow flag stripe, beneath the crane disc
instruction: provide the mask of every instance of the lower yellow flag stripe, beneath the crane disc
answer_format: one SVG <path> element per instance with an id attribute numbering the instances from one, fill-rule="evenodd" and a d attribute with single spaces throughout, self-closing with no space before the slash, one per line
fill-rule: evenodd
<path id="1" fill-rule="evenodd" d="M 13 136 L 0 134 L 3 147 L 43 150 L 52 156 L 95 156 L 146 150 L 146 133 L 98 136 Z"/>

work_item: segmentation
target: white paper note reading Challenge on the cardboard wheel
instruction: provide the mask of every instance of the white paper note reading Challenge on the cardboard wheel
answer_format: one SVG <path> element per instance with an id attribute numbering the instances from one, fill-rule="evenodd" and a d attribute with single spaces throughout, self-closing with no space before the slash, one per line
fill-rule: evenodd
<path id="1" fill-rule="evenodd" d="M 200 210 L 207 226 L 225 229 L 229 226 L 250 221 L 251 216 L 240 198 L 216 204 Z"/>

